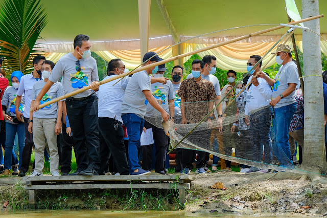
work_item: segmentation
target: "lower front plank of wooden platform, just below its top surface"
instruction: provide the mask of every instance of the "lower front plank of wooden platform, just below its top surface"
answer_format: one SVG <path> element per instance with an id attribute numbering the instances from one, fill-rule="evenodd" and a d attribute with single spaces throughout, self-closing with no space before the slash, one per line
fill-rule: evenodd
<path id="1" fill-rule="evenodd" d="M 173 183 L 144 183 L 144 184 L 62 184 L 62 185 L 31 185 L 25 186 L 25 189 L 128 189 L 128 188 L 158 188 L 158 189 L 170 189 L 173 188 Z M 190 189 L 190 183 L 176 184 L 177 189 Z"/>

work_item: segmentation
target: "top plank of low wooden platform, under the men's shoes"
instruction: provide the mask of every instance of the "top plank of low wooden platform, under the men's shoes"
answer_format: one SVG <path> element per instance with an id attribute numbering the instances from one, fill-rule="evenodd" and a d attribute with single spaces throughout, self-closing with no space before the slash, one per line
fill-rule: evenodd
<path id="1" fill-rule="evenodd" d="M 190 175 L 146 175 L 146 176 L 43 176 L 23 177 L 23 181 L 39 182 L 76 182 L 76 181 L 192 181 Z"/>

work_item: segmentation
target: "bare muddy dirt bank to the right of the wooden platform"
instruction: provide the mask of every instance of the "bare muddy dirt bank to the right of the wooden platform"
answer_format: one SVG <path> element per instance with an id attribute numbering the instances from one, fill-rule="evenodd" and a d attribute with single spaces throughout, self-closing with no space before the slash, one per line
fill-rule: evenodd
<path id="1" fill-rule="evenodd" d="M 192 176 L 187 211 L 327 216 L 327 185 L 312 188 L 311 181 L 300 180 L 301 175 L 217 171 Z M 212 189 L 216 182 L 222 182 L 227 189 Z"/>

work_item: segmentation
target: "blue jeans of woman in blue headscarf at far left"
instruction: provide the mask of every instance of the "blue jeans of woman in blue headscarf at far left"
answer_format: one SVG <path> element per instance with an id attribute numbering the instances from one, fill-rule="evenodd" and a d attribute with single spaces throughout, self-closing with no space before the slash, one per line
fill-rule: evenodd
<path id="1" fill-rule="evenodd" d="M 18 134 L 18 146 L 19 146 L 18 169 L 20 169 L 22 150 L 24 149 L 24 145 L 25 145 L 25 126 L 24 123 L 12 124 L 8 122 L 6 122 L 6 148 L 5 148 L 4 169 L 11 169 L 12 157 L 16 157 L 15 152 L 13 150 L 16 133 Z"/>

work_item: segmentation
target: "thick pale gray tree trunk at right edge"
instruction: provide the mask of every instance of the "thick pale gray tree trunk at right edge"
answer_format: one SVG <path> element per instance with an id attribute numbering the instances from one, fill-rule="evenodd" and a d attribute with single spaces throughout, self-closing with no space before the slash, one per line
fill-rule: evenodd
<path id="1" fill-rule="evenodd" d="M 319 14 L 318 0 L 302 0 L 302 18 Z M 304 23 L 306 27 L 320 33 L 319 19 Z M 322 92 L 322 67 L 320 37 L 302 30 L 303 72 L 305 82 L 305 139 L 302 167 L 314 172 L 325 172 L 326 156 L 324 147 L 324 109 Z M 320 76 L 315 76 L 320 75 Z"/>

